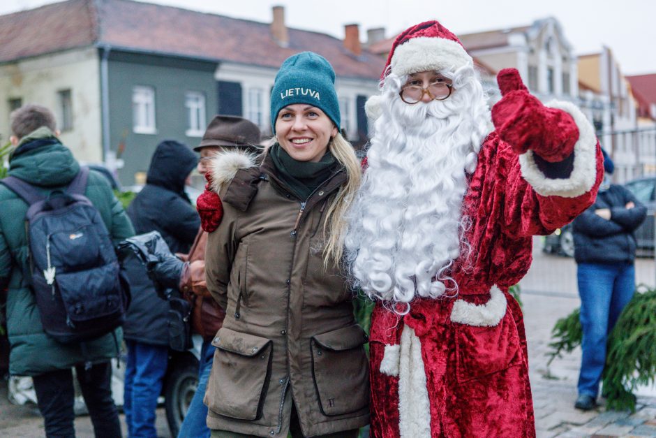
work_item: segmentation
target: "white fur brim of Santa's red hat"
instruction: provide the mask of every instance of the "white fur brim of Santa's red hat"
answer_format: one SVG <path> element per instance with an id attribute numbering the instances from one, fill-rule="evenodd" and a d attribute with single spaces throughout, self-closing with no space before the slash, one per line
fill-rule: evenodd
<path id="1" fill-rule="evenodd" d="M 398 45 L 389 64 L 392 73 L 403 76 L 419 71 L 473 66 L 474 61 L 463 46 L 455 41 L 418 36 Z"/>

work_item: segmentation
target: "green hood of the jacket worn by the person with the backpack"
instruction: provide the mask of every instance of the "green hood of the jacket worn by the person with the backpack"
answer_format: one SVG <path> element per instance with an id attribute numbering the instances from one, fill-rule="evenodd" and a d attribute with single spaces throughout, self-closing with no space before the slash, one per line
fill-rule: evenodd
<path id="1" fill-rule="evenodd" d="M 38 187 L 57 187 L 68 184 L 79 171 L 70 149 L 43 126 L 22 138 L 10 156 L 8 175 Z"/>

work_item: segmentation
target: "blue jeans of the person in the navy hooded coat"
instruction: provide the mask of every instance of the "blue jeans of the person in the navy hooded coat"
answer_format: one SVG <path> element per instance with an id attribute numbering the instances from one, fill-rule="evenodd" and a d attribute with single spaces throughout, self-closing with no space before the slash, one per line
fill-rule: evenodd
<path id="1" fill-rule="evenodd" d="M 168 362 L 168 346 L 126 340 L 128 364 L 123 410 L 128 437 L 156 438 L 155 409 L 162 392 Z"/>

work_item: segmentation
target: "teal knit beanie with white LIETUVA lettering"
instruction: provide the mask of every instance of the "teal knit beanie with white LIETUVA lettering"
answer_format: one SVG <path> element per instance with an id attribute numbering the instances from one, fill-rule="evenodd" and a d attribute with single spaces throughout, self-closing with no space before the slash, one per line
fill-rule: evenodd
<path id="1" fill-rule="evenodd" d="M 341 128 L 335 92 L 335 71 L 320 54 L 301 52 L 288 57 L 271 89 L 271 131 L 276 133 L 278 112 L 287 105 L 307 103 L 325 112 Z"/>

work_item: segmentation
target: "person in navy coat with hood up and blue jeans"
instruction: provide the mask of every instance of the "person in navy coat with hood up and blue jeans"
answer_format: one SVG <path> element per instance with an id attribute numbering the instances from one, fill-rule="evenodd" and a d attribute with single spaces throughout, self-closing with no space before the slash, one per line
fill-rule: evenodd
<path id="1" fill-rule="evenodd" d="M 197 161 L 186 145 L 163 141 L 151 159 L 146 186 L 128 207 L 137 233 L 159 231 L 172 252 L 189 251 L 200 226 L 200 218 L 184 192 Z M 130 258 L 125 266 L 132 291 L 124 324 L 128 435 L 156 437 L 155 408 L 168 360 L 169 303 L 158 297 L 146 268 L 136 258 Z"/>

